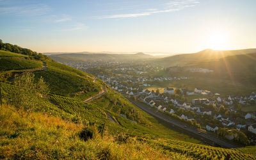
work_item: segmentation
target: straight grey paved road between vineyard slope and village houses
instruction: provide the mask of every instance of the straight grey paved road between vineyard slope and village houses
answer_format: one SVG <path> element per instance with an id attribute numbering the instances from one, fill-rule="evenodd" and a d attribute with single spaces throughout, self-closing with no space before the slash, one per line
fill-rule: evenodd
<path id="1" fill-rule="evenodd" d="M 142 109 L 143 111 L 146 111 L 147 113 L 149 113 L 150 115 L 156 116 L 157 118 L 160 118 L 161 120 L 164 120 L 165 122 L 168 122 L 172 125 L 175 125 L 176 127 L 179 127 L 180 129 L 183 129 L 185 131 L 191 132 L 193 134 L 196 134 L 196 136 L 199 136 L 201 138 L 204 138 L 207 141 L 212 141 L 218 145 L 220 145 L 221 147 L 226 147 L 226 148 L 238 148 L 241 146 L 238 145 L 234 145 L 234 144 L 230 144 L 227 141 L 224 140 L 220 140 L 216 137 L 214 137 L 211 134 L 205 134 L 205 133 L 199 133 L 198 131 L 196 131 L 196 129 L 191 128 L 191 127 L 184 127 L 186 124 L 182 124 L 180 122 L 178 122 L 177 120 L 173 120 L 172 118 L 170 118 L 170 116 L 164 115 L 163 113 L 159 113 L 157 111 L 155 111 L 154 109 L 145 106 L 143 104 L 140 104 L 138 102 L 134 102 L 131 100 L 131 102 L 133 104 L 135 104 L 136 106 L 138 106 L 138 108 Z"/>

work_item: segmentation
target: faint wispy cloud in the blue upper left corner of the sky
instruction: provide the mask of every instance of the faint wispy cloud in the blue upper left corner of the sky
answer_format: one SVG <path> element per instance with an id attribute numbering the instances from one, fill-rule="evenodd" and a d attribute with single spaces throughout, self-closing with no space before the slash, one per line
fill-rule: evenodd
<path id="1" fill-rule="evenodd" d="M 24 6 L 0 6 L 1 15 L 44 15 L 49 10 L 49 6 L 45 4 L 29 4 Z"/>

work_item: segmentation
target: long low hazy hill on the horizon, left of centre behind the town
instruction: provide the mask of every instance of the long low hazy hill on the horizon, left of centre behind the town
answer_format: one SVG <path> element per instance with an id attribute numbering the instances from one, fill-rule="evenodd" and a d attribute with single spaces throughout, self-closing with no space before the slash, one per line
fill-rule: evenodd
<path id="1" fill-rule="evenodd" d="M 65 63 L 67 61 L 145 61 L 155 58 L 142 52 L 136 54 L 106 54 L 106 53 L 65 53 L 51 54 L 52 60 Z"/>

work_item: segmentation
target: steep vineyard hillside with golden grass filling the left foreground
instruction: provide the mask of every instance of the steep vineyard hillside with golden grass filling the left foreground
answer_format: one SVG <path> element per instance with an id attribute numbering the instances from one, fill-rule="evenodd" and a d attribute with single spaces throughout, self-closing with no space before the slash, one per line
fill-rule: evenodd
<path id="1" fill-rule="evenodd" d="M 0 51 L 0 60 L 1 159 L 254 159 L 196 144 L 75 68 L 36 54 Z"/>

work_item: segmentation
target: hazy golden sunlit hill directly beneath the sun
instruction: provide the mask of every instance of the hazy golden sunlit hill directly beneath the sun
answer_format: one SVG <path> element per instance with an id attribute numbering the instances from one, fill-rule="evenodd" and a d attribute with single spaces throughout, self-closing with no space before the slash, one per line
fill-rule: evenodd
<path id="1" fill-rule="evenodd" d="M 179 54 L 175 56 L 169 56 L 166 58 L 160 58 L 152 60 L 152 63 L 161 65 L 164 67 L 172 66 L 186 66 L 191 63 L 200 61 L 218 60 L 226 56 L 232 56 L 237 54 L 250 54 L 256 52 L 256 49 L 241 49 L 241 50 L 230 50 L 230 51 L 214 51 L 212 49 L 205 49 L 204 51 L 191 53 L 191 54 Z"/>

